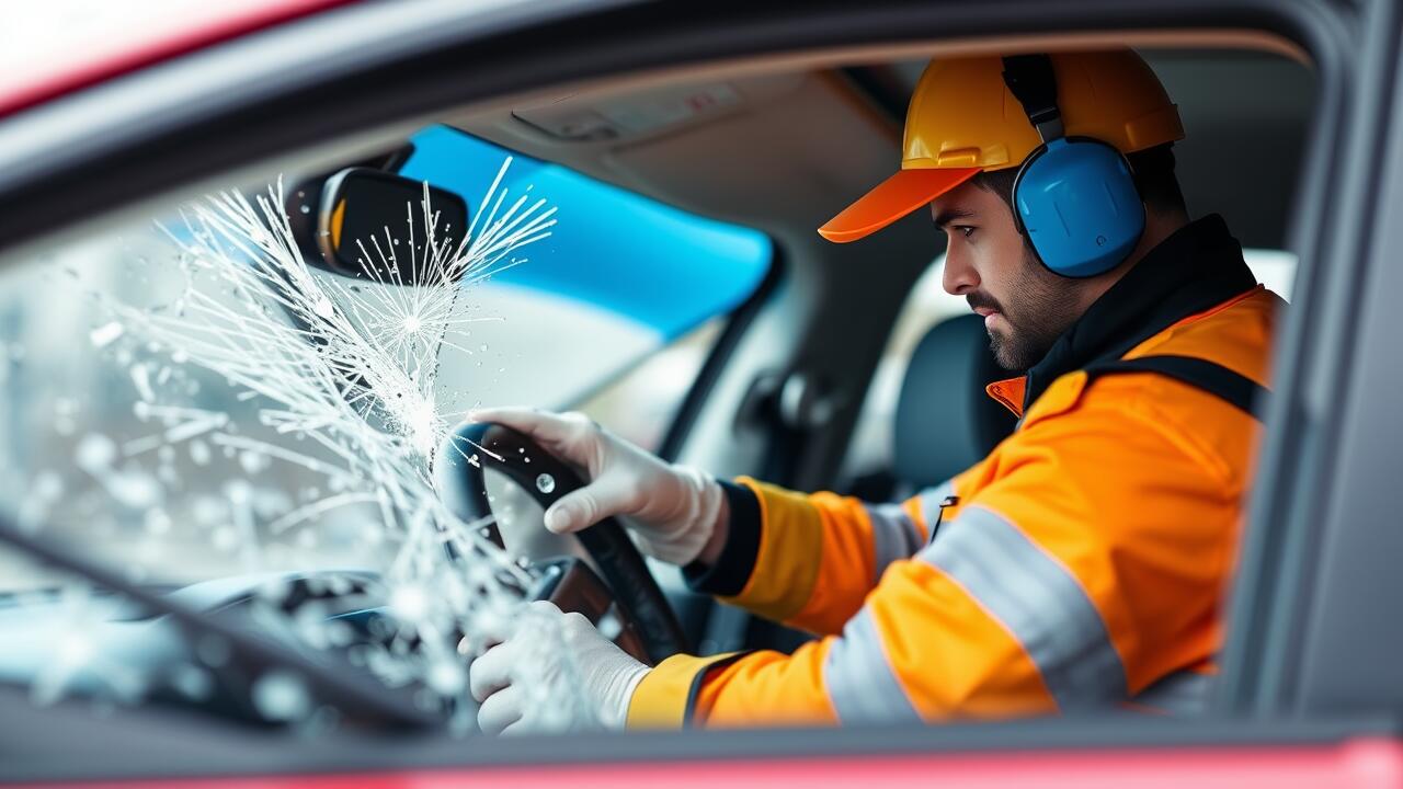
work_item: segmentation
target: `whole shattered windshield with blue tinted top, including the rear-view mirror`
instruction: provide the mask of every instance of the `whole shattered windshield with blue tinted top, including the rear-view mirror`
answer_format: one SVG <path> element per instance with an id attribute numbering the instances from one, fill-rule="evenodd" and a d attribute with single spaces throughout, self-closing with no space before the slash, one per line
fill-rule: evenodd
<path id="1" fill-rule="evenodd" d="M 473 731 L 470 660 L 588 552 L 542 542 L 570 469 L 469 413 L 659 448 L 770 258 L 448 126 L 48 246 L 0 275 L 0 672 L 35 705 Z M 605 608 L 637 650 L 647 616 Z"/>

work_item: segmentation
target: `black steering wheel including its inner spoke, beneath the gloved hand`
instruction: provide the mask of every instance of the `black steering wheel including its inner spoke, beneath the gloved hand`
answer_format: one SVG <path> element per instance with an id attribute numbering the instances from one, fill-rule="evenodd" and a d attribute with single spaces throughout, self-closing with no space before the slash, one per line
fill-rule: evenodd
<path id="1" fill-rule="evenodd" d="M 490 476 L 499 476 L 526 493 L 542 512 L 585 486 L 579 473 L 532 438 L 491 423 L 459 427 L 439 452 L 434 475 L 443 503 L 455 515 L 467 522 L 494 517 L 488 533 L 499 548 L 509 546 L 498 529 L 501 518 L 492 511 L 494 500 L 501 497 L 488 493 Z M 544 522 L 528 528 L 549 535 Z M 530 592 L 533 598 L 550 599 L 561 611 L 578 611 L 596 625 L 612 616 L 619 633 L 615 636 L 605 626 L 600 632 L 644 663 L 657 664 L 687 651 L 676 614 L 617 519 L 605 518 L 561 539 L 575 541 L 582 550 L 528 556 L 540 576 L 540 584 Z"/>

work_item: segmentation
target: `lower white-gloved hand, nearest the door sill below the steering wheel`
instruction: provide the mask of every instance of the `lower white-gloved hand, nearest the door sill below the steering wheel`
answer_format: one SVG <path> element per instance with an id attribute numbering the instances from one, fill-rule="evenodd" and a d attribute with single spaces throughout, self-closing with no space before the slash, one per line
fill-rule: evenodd
<path id="1" fill-rule="evenodd" d="M 469 688 L 487 734 L 623 729 L 629 702 L 651 671 L 579 614 L 547 601 L 505 621 L 505 640 L 473 661 Z"/>

